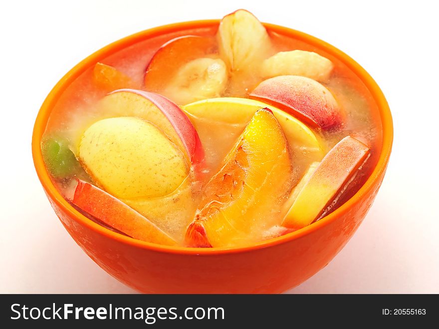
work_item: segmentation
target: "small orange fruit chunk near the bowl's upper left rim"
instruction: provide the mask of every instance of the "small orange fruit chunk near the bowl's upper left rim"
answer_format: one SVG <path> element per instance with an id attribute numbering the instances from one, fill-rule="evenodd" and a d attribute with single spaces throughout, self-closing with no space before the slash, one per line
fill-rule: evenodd
<path id="1" fill-rule="evenodd" d="M 117 70 L 113 66 L 103 63 L 96 63 L 93 69 L 93 79 L 96 85 L 107 91 L 121 88 L 137 88 L 129 76 Z"/>

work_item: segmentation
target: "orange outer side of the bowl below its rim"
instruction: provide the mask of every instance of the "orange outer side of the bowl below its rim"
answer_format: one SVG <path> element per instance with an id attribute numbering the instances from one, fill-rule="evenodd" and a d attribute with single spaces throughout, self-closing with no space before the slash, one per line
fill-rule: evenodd
<path id="1" fill-rule="evenodd" d="M 281 293 L 326 266 L 363 221 L 373 189 L 328 225 L 274 246 L 217 255 L 170 254 L 138 248 L 85 227 L 52 202 L 77 244 L 101 268 L 143 293 Z"/>

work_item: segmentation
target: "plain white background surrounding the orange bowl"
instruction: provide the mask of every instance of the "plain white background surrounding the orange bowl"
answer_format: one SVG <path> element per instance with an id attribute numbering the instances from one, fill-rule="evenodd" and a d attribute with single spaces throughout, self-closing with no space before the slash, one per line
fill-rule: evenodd
<path id="1" fill-rule="evenodd" d="M 31 132 L 54 84 L 134 32 L 237 8 L 357 60 L 390 104 L 395 141 L 374 206 L 322 271 L 290 293 L 439 293 L 438 10 L 434 1 L 3 1 L 0 293 L 134 293 L 73 242 L 35 174 Z"/>

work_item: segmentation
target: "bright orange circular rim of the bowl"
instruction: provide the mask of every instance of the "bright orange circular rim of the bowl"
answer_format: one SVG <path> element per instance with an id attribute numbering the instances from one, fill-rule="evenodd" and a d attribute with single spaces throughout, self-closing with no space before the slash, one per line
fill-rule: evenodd
<path id="1" fill-rule="evenodd" d="M 219 19 L 192 20 L 192 21 L 161 25 L 158 27 L 153 27 L 150 29 L 146 29 L 128 35 L 122 39 L 119 39 L 115 42 L 112 42 L 104 46 L 103 48 L 95 51 L 94 53 L 92 53 L 91 55 L 80 61 L 56 83 L 56 85 L 47 95 L 35 119 L 35 124 L 32 133 L 32 157 L 38 178 L 48 198 L 51 199 L 52 202 L 56 204 L 56 206 L 58 206 L 64 212 L 66 212 L 70 218 L 74 219 L 80 225 L 83 225 L 95 231 L 95 233 L 106 236 L 109 239 L 114 239 L 119 243 L 127 244 L 132 247 L 147 249 L 155 252 L 162 252 L 168 254 L 197 255 L 197 256 L 242 253 L 242 252 L 260 250 L 272 246 L 277 246 L 283 243 L 287 243 L 292 240 L 296 240 L 301 237 L 304 237 L 308 234 L 311 234 L 319 230 L 320 228 L 326 225 L 329 225 L 330 223 L 335 221 L 340 215 L 347 213 L 351 208 L 355 207 L 355 205 L 361 201 L 362 197 L 371 191 L 371 189 L 374 187 L 375 182 L 383 175 L 384 171 L 386 170 L 387 163 L 389 161 L 390 153 L 392 150 L 393 121 L 386 98 L 383 92 L 381 91 L 380 87 L 378 86 L 378 84 L 375 82 L 375 80 L 355 60 L 353 60 L 351 57 L 349 57 L 347 54 L 345 54 L 338 48 L 334 47 L 333 45 L 323 40 L 320 40 L 312 35 L 309 35 L 307 33 L 295 29 L 291 29 L 285 26 L 280 26 L 271 23 L 263 23 L 263 25 L 269 28 L 271 31 L 283 35 L 293 36 L 294 38 L 304 41 L 310 45 L 313 45 L 318 49 L 322 49 L 326 51 L 327 53 L 333 55 L 334 57 L 342 61 L 345 65 L 349 67 L 349 69 L 351 69 L 361 79 L 361 81 L 369 89 L 374 100 L 376 101 L 380 113 L 382 129 L 383 129 L 381 153 L 374 170 L 372 171 L 367 181 L 363 184 L 363 186 L 357 191 L 357 193 L 355 193 L 349 200 L 347 200 L 343 205 L 341 205 L 339 208 L 337 208 L 334 212 L 332 212 L 328 216 L 300 230 L 288 233 L 286 235 L 277 238 L 262 241 L 250 246 L 243 246 L 237 248 L 236 247 L 190 248 L 190 247 L 180 247 L 180 246 L 171 247 L 171 246 L 164 246 L 155 243 L 145 242 L 113 232 L 91 221 L 90 219 L 82 215 L 79 211 L 74 209 L 56 190 L 54 184 L 50 180 L 49 175 L 43 163 L 41 148 L 40 148 L 41 137 L 45 130 L 50 111 L 53 108 L 53 106 L 56 104 L 59 96 L 63 93 L 63 91 L 67 88 L 67 86 L 72 81 L 74 81 L 79 75 L 81 75 L 85 70 L 90 68 L 101 58 L 108 56 L 115 51 L 119 51 L 145 38 L 151 38 L 163 33 L 178 31 L 185 28 L 209 27 L 215 24 L 219 24 Z"/>

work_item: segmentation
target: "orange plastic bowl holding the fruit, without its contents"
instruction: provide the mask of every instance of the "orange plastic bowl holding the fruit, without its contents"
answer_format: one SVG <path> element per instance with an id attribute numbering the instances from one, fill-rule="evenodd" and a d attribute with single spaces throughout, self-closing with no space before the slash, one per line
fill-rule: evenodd
<path id="1" fill-rule="evenodd" d="M 265 24 L 341 60 L 363 81 L 378 105 L 383 127 L 381 152 L 366 183 L 345 204 L 299 231 L 244 248 L 167 247 L 112 232 L 87 219 L 65 201 L 50 181 L 40 142 L 50 112 L 65 88 L 101 58 L 140 40 L 179 29 L 208 27 L 219 20 L 171 24 L 116 41 L 71 69 L 45 99 L 32 136 L 36 172 L 53 209 L 76 243 L 102 269 L 143 293 L 281 293 L 325 267 L 363 221 L 383 181 L 393 141 L 392 116 L 372 77 L 330 44 L 289 28 Z"/>

